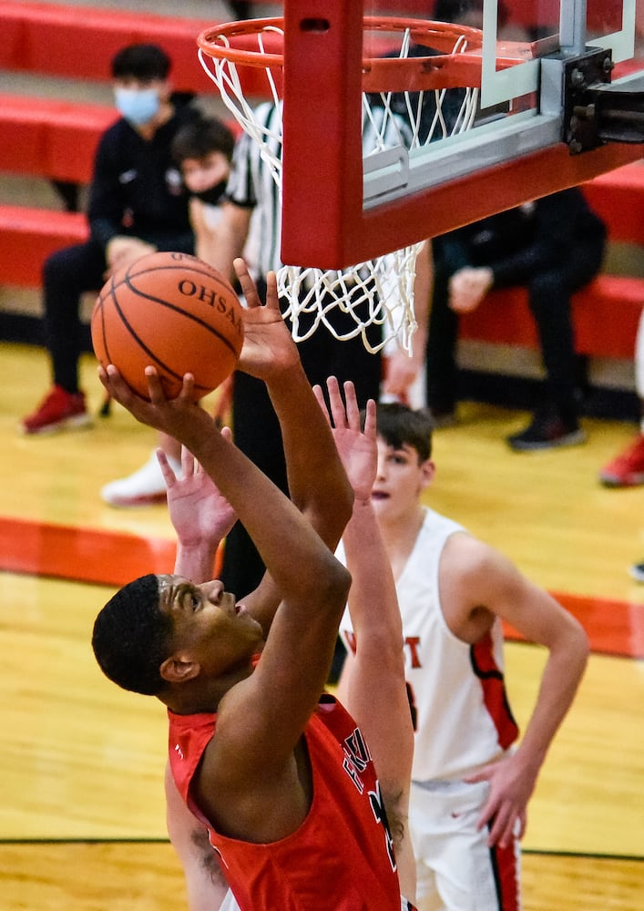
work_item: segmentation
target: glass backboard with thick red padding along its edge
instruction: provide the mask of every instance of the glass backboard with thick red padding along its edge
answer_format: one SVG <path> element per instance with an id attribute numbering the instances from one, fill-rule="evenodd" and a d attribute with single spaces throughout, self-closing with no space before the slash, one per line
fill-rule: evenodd
<path id="1" fill-rule="evenodd" d="M 594 69 L 588 75 L 585 68 L 588 48 L 606 52 L 616 65 L 610 72 L 599 56 L 602 81 L 635 85 L 644 0 L 467 6 L 285 0 L 283 261 L 342 268 L 641 157 L 639 144 L 612 141 L 579 152 L 567 135 L 563 85 L 593 81 Z M 361 148 L 362 61 L 380 53 L 363 46 L 361 20 L 375 14 L 454 16 L 483 32 L 474 127 L 403 156 L 394 176 L 386 155 L 382 174 L 373 157 L 367 172 Z M 529 56 L 498 66 L 500 47 L 512 42 L 529 47 Z"/>

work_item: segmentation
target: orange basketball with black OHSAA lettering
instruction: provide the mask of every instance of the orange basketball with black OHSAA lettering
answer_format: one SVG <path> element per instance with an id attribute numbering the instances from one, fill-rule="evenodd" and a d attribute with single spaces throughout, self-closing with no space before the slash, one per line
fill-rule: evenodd
<path id="1" fill-rule="evenodd" d="M 242 308 L 223 275 L 188 253 L 149 253 L 111 276 L 91 319 L 98 361 L 113 363 L 148 398 L 148 364 L 164 393 L 179 394 L 183 374 L 195 378 L 195 399 L 235 369 L 244 338 Z"/>

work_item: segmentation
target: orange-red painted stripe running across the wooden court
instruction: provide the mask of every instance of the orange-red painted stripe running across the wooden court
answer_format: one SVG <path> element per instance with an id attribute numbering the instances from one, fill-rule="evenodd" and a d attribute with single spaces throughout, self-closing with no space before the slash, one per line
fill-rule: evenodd
<path id="1" fill-rule="evenodd" d="M 0 517 L 0 570 L 7 572 L 118 587 L 171 571 L 175 552 L 166 538 Z M 644 659 L 644 605 L 553 594 L 583 624 L 593 651 Z M 522 639 L 509 625 L 506 636 Z"/>

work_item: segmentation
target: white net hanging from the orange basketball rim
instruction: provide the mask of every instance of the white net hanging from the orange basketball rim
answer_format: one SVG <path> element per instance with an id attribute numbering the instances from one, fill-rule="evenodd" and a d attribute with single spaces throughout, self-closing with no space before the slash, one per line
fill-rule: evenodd
<path id="1" fill-rule="evenodd" d="M 246 59 L 238 64 L 234 53 L 234 29 L 208 33 L 208 49 L 199 49 L 202 67 L 218 87 L 220 96 L 240 123 L 241 128 L 258 144 L 261 158 L 281 190 L 281 118 L 279 128 L 265 125 L 254 115 L 254 107 L 245 96 L 238 66 L 263 67 L 267 86 L 275 106 L 281 109 L 281 58 L 275 55 L 275 42 L 283 38 L 281 20 L 262 20 L 237 24 L 243 31 Z M 394 28 L 389 33 L 390 58 L 426 57 L 439 53 L 433 49 L 431 29 L 423 44 L 419 43 L 416 23 Z M 445 28 L 438 26 L 440 53 L 445 54 Z M 365 26 L 366 27 L 366 26 Z M 255 30 L 256 29 L 256 30 Z M 466 30 L 465 30 L 466 32 Z M 470 30 L 471 33 L 471 30 Z M 232 38 L 231 38 L 232 36 Z M 383 29 L 379 27 L 379 38 Z M 250 47 L 248 41 L 254 42 Z M 471 34 L 455 32 L 448 38 L 448 54 L 465 54 Z M 277 74 L 277 77 L 276 77 Z M 404 148 L 405 154 L 423 148 L 438 139 L 463 133 L 474 122 L 478 103 L 476 87 L 441 87 L 419 91 L 363 91 L 363 159 L 368 169 L 370 156 Z M 338 270 L 323 270 L 305 265 L 284 265 L 278 272 L 281 297 L 288 302 L 285 316 L 291 322 L 296 341 L 309 338 L 323 324 L 336 338 L 345 341 L 361 335 L 367 350 L 377 352 L 394 340 L 407 353 L 412 353 L 412 339 L 417 328 L 414 316 L 414 279 L 416 259 L 423 243 L 386 253 L 373 260 L 356 263 Z M 342 320 L 335 317 L 341 313 Z"/>

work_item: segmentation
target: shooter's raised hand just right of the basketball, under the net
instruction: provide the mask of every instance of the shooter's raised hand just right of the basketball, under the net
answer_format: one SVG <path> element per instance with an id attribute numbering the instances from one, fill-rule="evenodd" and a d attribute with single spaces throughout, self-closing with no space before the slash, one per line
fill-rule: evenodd
<path id="1" fill-rule="evenodd" d="M 237 259 L 234 266 L 247 303 L 243 311 L 244 343 L 239 367 L 244 373 L 269 383 L 284 370 L 299 364 L 300 354 L 280 312 L 275 273 L 269 272 L 266 277 L 266 305 L 262 306 L 246 263 Z"/>

